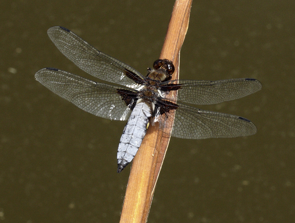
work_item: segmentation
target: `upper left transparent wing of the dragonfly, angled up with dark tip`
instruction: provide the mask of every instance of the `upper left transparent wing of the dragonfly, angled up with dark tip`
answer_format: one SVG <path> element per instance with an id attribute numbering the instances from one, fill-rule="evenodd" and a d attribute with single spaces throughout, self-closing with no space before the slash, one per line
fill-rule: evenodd
<path id="1" fill-rule="evenodd" d="M 131 66 L 98 50 L 70 30 L 54 26 L 47 34 L 58 50 L 81 70 L 104 81 L 137 87 L 144 77 Z M 135 84 L 137 83 L 137 84 Z"/>

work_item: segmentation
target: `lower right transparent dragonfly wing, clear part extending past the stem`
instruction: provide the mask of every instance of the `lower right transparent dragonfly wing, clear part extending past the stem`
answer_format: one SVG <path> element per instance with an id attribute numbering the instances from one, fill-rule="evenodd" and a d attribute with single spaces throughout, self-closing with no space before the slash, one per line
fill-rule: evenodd
<path id="1" fill-rule="evenodd" d="M 248 119 L 219 112 L 200 110 L 177 103 L 173 137 L 185 139 L 223 138 L 253 135 L 256 126 Z M 165 115 L 165 114 L 164 114 Z M 165 118 L 164 118 L 165 119 Z M 164 129 L 164 124 L 160 123 Z"/>

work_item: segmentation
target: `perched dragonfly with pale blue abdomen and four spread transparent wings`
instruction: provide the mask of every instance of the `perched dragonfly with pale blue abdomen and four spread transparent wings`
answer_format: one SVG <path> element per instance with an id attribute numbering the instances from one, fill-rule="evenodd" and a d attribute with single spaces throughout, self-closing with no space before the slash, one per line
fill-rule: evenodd
<path id="1" fill-rule="evenodd" d="M 175 110 L 173 137 L 204 139 L 255 134 L 248 119 L 200 110 L 178 101 L 208 105 L 242 98 L 261 89 L 253 78 L 221 81 L 171 80 L 174 66 L 166 59 L 156 60 L 146 77 L 131 66 L 108 56 L 70 30 L 54 26 L 49 38 L 69 60 L 93 77 L 120 86 L 94 82 L 56 68 L 43 68 L 35 74 L 42 85 L 77 107 L 111 120 L 128 120 L 120 139 L 117 160 L 120 173 L 136 155 L 148 123 L 159 120 L 164 129 L 168 113 Z M 167 99 L 178 90 L 178 101 Z"/>

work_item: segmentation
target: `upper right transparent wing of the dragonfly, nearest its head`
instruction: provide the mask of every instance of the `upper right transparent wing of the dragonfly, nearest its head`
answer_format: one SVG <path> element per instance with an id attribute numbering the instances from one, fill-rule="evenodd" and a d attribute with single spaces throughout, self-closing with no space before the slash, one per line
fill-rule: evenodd
<path id="1" fill-rule="evenodd" d="M 176 81 L 163 83 L 161 90 L 179 88 L 177 100 L 196 105 L 217 104 L 242 98 L 262 88 L 262 84 L 253 78 L 221 81 L 179 80 L 175 85 L 174 82 L 176 83 Z"/>

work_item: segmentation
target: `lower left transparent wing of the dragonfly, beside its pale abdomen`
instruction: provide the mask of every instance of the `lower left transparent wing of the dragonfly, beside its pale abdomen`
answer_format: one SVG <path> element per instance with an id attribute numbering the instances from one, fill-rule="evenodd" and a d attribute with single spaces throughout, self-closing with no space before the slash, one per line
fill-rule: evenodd
<path id="1" fill-rule="evenodd" d="M 43 68 L 35 78 L 49 90 L 72 102 L 77 107 L 99 117 L 127 120 L 131 110 L 115 86 L 96 83 L 55 68 Z"/>

